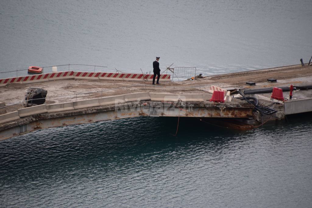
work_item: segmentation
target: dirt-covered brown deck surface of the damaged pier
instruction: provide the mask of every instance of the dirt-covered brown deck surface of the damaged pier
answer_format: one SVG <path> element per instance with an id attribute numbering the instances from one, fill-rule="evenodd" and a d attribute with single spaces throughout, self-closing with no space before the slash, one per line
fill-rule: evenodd
<path id="1" fill-rule="evenodd" d="M 277 82 L 271 83 L 267 79 L 274 78 Z M 246 81 L 253 81 L 255 86 L 246 85 Z M 0 87 L 1 101 L 6 105 L 22 102 L 25 90 L 29 87 L 38 87 L 48 91 L 46 104 L 72 102 L 82 99 L 98 98 L 134 92 L 149 91 L 152 93 L 203 93 L 205 102 L 209 103 L 212 94 L 208 93 L 210 85 L 234 89 L 263 89 L 267 87 L 285 87 L 289 85 L 312 85 L 312 66 L 283 66 L 263 70 L 244 71 L 223 75 L 212 75 L 195 80 L 184 80 L 180 82 L 167 81 L 161 85 L 151 85 L 147 81 L 114 81 L 114 80 L 54 80 L 39 83 L 17 84 L 12 83 Z M 134 86 L 136 85 L 136 86 Z M 116 89 L 121 88 L 121 89 Z M 90 92 L 90 93 L 89 93 Z M 91 93 L 95 92 L 95 93 Z M 84 93 L 84 94 L 80 94 Z M 261 94 L 270 97 L 270 93 Z M 59 97 L 57 97 L 59 96 Z M 287 93 L 284 92 L 287 97 Z M 312 98 L 312 90 L 300 90 L 294 92 L 293 98 Z M 232 99 L 231 103 L 244 103 L 238 99 Z M 11 112 L 22 107 L 21 104 L 7 107 Z"/>

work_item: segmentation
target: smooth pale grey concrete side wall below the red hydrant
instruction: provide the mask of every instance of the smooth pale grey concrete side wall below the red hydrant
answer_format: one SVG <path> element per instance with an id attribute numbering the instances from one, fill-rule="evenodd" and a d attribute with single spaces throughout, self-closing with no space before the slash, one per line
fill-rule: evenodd
<path id="1" fill-rule="evenodd" d="M 311 112 L 312 98 L 286 101 L 284 106 L 285 115 Z"/>

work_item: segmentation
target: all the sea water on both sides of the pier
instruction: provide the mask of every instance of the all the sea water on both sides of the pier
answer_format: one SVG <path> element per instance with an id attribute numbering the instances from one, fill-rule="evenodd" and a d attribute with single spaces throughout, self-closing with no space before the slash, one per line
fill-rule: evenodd
<path id="1" fill-rule="evenodd" d="M 0 1 L 0 71 L 204 75 L 310 59 L 311 1 Z M 92 69 L 85 69 L 92 70 Z M 8 74 L 6 74 L 8 75 Z M 1 76 L 4 76 L 3 74 Z M 241 132 L 136 118 L 0 142 L 0 207 L 310 207 L 311 117 Z"/>

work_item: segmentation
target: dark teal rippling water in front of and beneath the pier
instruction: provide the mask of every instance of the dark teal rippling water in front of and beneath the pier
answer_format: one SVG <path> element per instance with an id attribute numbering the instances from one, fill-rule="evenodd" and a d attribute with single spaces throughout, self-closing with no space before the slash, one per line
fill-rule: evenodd
<path id="1" fill-rule="evenodd" d="M 174 137 L 176 124 L 125 119 L 2 141 L 1 204 L 310 206 L 311 120 L 241 132 L 181 119 Z"/>

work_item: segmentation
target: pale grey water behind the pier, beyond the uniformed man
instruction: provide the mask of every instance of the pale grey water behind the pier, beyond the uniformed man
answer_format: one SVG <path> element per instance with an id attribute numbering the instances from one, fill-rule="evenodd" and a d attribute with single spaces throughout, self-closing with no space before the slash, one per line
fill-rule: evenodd
<path id="1" fill-rule="evenodd" d="M 162 70 L 174 63 L 204 75 L 300 64 L 312 55 L 311 8 L 310 0 L 0 1 L 0 72 L 70 63 L 141 73 L 155 56 Z"/>

